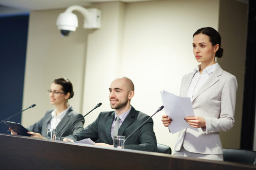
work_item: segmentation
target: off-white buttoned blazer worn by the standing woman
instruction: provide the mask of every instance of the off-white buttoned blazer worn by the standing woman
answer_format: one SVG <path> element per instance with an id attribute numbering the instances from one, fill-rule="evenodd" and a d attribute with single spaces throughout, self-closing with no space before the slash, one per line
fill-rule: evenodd
<path id="1" fill-rule="evenodd" d="M 193 73 L 182 78 L 181 97 L 187 97 L 192 78 Z M 192 129 L 180 131 L 175 150 L 179 151 L 183 144 L 189 152 L 222 154 L 219 132 L 228 131 L 234 125 L 236 90 L 236 77 L 218 65 L 192 99 L 194 113 L 205 118 L 206 128 L 199 128 L 199 132 Z"/>

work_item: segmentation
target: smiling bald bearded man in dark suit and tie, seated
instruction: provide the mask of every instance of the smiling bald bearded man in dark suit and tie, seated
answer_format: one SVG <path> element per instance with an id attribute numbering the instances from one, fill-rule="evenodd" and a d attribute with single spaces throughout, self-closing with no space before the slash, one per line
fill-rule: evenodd
<path id="1" fill-rule="evenodd" d="M 110 106 L 115 111 L 100 112 L 98 118 L 84 130 L 69 135 L 63 141 L 74 142 L 90 138 L 99 146 L 113 147 L 114 125 L 119 117 L 118 135 L 128 137 L 139 127 L 148 115 L 130 105 L 134 96 L 134 84 L 127 77 L 116 78 L 109 88 Z M 150 118 L 138 131 L 127 139 L 125 149 L 157 151 L 153 120 Z"/>

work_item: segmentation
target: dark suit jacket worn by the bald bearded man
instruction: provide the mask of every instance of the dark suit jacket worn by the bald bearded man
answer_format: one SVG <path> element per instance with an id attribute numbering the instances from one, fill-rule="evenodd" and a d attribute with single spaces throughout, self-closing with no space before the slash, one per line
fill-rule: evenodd
<path id="1" fill-rule="evenodd" d="M 139 125 L 141 125 L 148 115 L 135 110 L 133 107 L 118 130 L 118 135 L 128 137 Z M 67 138 L 74 141 L 90 138 L 97 143 L 107 143 L 113 145 L 110 129 L 114 120 L 114 111 L 100 112 L 98 118 L 84 130 L 69 135 Z M 127 139 L 125 149 L 157 151 L 156 136 L 153 131 L 153 120 L 150 118 L 138 131 Z"/>

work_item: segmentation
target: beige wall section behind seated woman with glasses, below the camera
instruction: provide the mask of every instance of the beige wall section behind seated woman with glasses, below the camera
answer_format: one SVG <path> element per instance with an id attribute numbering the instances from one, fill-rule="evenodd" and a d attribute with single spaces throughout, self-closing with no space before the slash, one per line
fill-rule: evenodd
<path id="1" fill-rule="evenodd" d="M 76 33 L 62 37 L 56 26 L 61 12 L 64 10 L 30 12 L 23 108 L 33 103 L 36 107 L 22 114 L 25 127 L 42 118 L 47 109 L 54 108 L 50 105 L 47 90 L 55 78 L 69 78 L 74 86 L 70 104 L 76 111 L 82 110 L 88 31 L 78 27 Z M 82 15 L 78 14 L 78 18 L 81 20 Z"/>

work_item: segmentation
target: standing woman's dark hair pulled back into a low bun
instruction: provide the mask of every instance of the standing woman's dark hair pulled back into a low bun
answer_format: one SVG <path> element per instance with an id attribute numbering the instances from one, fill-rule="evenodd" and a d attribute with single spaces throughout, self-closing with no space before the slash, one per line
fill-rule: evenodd
<path id="1" fill-rule="evenodd" d="M 212 46 L 214 46 L 216 44 L 220 45 L 220 43 L 221 43 L 220 34 L 214 28 L 212 28 L 212 27 L 200 28 L 193 34 L 193 38 L 195 35 L 200 34 L 200 33 L 208 35 L 208 37 L 210 37 L 210 42 L 212 43 Z M 215 57 L 220 58 L 220 57 L 222 57 L 222 54 L 223 54 L 223 49 L 219 47 L 218 51 L 216 51 Z"/>

